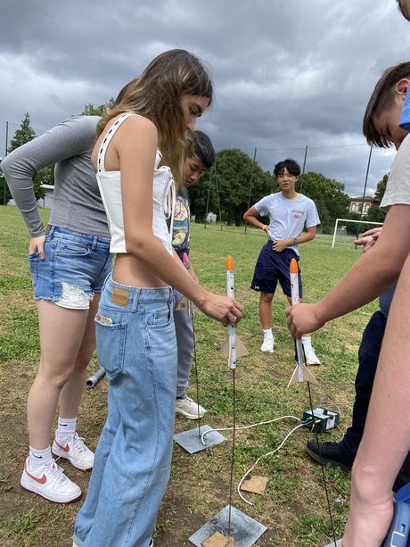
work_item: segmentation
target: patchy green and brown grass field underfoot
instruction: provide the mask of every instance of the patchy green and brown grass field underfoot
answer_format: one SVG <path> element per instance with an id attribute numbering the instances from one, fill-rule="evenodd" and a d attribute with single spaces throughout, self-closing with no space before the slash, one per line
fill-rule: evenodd
<path id="1" fill-rule="evenodd" d="M 41 211 L 46 220 L 47 211 Z M 28 236 L 19 212 L 0 207 L 0 380 L 2 459 L 0 460 L 0 545 L 67 547 L 79 503 L 60 506 L 21 489 L 20 477 L 27 452 L 25 416 L 29 386 L 35 377 L 39 354 L 37 314 L 32 299 L 27 266 Z M 254 424 L 292 415 L 301 418 L 309 406 L 307 385 L 287 388 L 294 369 L 293 345 L 285 327 L 283 310 L 286 300 L 277 293 L 273 308 L 275 353 L 259 351 L 258 295 L 250 291 L 250 278 L 262 232 L 243 228 L 193 225 L 192 260 L 204 286 L 225 292 L 225 257 L 235 261 L 237 299 L 245 306 L 238 336 L 249 355 L 242 358 L 236 371 L 236 416 L 238 425 Z M 315 302 L 329 290 L 360 256 L 352 246 L 331 249 L 331 238 L 321 236 L 301 245 L 305 300 Z M 361 333 L 376 303 L 326 325 L 314 335 L 317 355 L 323 361 L 312 368 L 319 385 L 312 386 L 314 405 L 325 404 L 340 410 L 340 429 L 321 434 L 321 440 L 337 440 L 348 427 L 354 400 L 353 383 L 357 370 L 357 347 Z M 226 359 L 217 351 L 226 329 L 196 313 L 197 364 L 201 404 L 209 410 L 203 423 L 211 427 L 232 426 L 232 373 Z M 90 370 L 96 368 L 96 361 Z M 195 396 L 194 377 L 190 394 Z M 106 382 L 86 391 L 79 414 L 79 432 L 95 447 L 105 417 Z M 299 428 L 275 455 L 259 461 L 253 474 L 268 477 L 262 495 L 246 494 L 253 506 L 246 505 L 236 493 L 236 485 L 255 460 L 275 450 L 287 433 L 298 425 L 296 419 L 284 419 L 267 426 L 240 431 L 236 435 L 233 505 L 267 526 L 258 545 L 272 547 L 321 547 L 332 539 L 330 518 L 324 495 L 321 468 L 304 450 L 312 434 Z M 184 431 L 194 422 L 176 417 L 176 431 Z M 155 547 L 184 547 L 188 537 L 228 503 L 231 439 L 213 449 L 190 456 L 174 446 L 172 475 L 160 509 L 154 536 Z M 59 461 L 67 474 L 83 491 L 89 476 L 70 463 Z M 341 534 L 348 514 L 349 476 L 340 469 L 326 468 L 325 476 L 337 535 Z M 343 495 L 342 495 L 343 494 Z M 102 546 L 110 547 L 110 546 Z"/>

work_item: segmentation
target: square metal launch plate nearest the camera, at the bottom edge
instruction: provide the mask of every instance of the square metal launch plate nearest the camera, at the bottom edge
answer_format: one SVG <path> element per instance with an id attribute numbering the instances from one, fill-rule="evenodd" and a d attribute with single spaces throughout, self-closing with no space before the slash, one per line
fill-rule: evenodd
<path id="1" fill-rule="evenodd" d="M 235 547 L 251 547 L 267 530 L 266 526 L 260 524 L 258 520 L 248 517 L 248 515 L 245 515 L 245 513 L 234 507 L 231 508 L 231 528 L 233 528 L 231 532 L 227 530 L 228 521 L 229 505 L 226 505 L 214 518 L 211 518 L 207 524 L 202 526 L 198 532 L 195 532 L 189 538 L 189 541 L 193 545 L 196 545 L 196 547 L 202 547 L 202 542 L 216 532 L 219 532 L 222 535 L 234 537 Z"/>

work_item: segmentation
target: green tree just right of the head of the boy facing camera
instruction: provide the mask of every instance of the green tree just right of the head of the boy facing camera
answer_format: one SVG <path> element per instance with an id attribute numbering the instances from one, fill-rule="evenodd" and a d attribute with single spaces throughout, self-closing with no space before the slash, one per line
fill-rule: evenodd
<path id="1" fill-rule="evenodd" d="M 296 190 L 316 203 L 317 212 L 324 232 L 332 232 L 337 218 L 348 218 L 347 208 L 350 197 L 344 191 L 345 186 L 326 178 L 322 173 L 309 171 L 300 176 Z"/>

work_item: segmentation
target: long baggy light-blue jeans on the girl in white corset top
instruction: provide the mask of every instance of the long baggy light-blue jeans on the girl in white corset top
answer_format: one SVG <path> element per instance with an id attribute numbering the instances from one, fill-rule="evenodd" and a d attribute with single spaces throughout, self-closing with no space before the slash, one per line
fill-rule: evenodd
<path id="1" fill-rule="evenodd" d="M 174 295 L 107 278 L 95 318 L 108 417 L 73 539 L 148 547 L 168 485 L 176 402 Z"/>

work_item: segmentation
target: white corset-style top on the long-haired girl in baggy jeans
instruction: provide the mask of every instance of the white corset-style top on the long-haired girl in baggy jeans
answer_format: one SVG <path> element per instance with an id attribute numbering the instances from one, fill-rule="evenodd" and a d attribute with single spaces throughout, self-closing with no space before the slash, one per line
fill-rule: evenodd
<path id="1" fill-rule="evenodd" d="M 105 170 L 105 153 L 111 143 L 111 138 L 115 135 L 121 124 L 129 116 L 137 115 L 124 113 L 114 121 L 102 139 L 97 157 L 96 178 L 110 227 L 111 253 L 127 253 L 127 248 L 124 236 L 120 172 Z M 157 151 L 152 186 L 152 232 L 154 236 L 160 239 L 161 243 L 168 250 L 168 253 L 172 254 L 172 228 L 176 203 L 176 186 L 169 167 L 165 165 L 158 167 L 161 158 L 160 151 Z M 167 223 L 169 219 L 170 221 Z M 169 228 L 168 224 L 170 225 Z"/>

